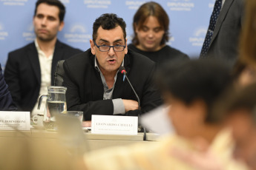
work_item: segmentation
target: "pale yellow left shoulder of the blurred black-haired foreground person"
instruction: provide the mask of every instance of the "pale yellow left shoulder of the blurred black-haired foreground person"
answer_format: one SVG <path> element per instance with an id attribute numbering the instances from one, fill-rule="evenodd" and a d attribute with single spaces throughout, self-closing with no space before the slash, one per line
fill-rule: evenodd
<path id="1" fill-rule="evenodd" d="M 84 155 L 84 161 L 88 169 L 191 169 L 171 156 L 171 149 L 176 147 L 186 149 L 189 146 L 183 138 L 167 135 L 157 141 L 90 152 Z"/>

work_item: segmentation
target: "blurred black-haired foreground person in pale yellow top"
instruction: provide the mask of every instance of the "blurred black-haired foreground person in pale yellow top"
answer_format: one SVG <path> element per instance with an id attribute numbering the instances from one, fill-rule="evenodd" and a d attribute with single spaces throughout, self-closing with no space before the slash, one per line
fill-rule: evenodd
<path id="1" fill-rule="evenodd" d="M 214 103 L 232 82 L 230 70 L 217 61 L 197 60 L 166 64 L 157 82 L 165 103 L 171 105 L 168 117 L 177 132 L 156 143 L 103 149 L 85 154 L 88 169 L 246 169 L 232 158 L 229 129 L 212 112 Z M 157 123 L 157 122 L 156 122 Z M 194 141 L 200 143 L 194 145 Z M 198 149 L 209 148 L 216 161 L 203 165 L 184 161 Z"/>

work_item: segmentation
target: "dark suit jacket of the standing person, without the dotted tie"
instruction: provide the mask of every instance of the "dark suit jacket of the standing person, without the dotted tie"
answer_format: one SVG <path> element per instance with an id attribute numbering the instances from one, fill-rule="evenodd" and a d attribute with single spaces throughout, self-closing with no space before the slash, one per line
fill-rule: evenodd
<path id="1" fill-rule="evenodd" d="M 244 0 L 223 0 L 214 28 L 207 57 L 222 58 L 234 64 L 243 22 Z"/>

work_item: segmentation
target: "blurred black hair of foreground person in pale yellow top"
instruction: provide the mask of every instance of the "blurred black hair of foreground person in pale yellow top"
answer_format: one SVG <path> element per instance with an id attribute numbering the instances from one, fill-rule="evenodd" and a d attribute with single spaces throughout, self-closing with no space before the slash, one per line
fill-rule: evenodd
<path id="1" fill-rule="evenodd" d="M 156 78 L 163 94 L 170 94 L 186 105 L 197 100 L 206 103 L 206 123 L 218 123 L 214 104 L 232 84 L 226 64 L 213 59 L 171 61 L 159 69 Z"/>

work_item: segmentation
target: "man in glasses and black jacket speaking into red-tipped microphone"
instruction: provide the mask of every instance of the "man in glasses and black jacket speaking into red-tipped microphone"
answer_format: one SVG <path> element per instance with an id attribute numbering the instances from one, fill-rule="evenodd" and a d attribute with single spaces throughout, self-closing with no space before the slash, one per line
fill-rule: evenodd
<path id="1" fill-rule="evenodd" d="M 125 21 L 113 13 L 96 18 L 91 49 L 63 65 L 68 110 L 83 111 L 84 120 L 91 120 L 91 115 L 138 116 L 162 104 L 152 81 L 155 64 L 128 51 L 125 27 Z M 119 71 L 121 66 L 137 95 Z"/>

